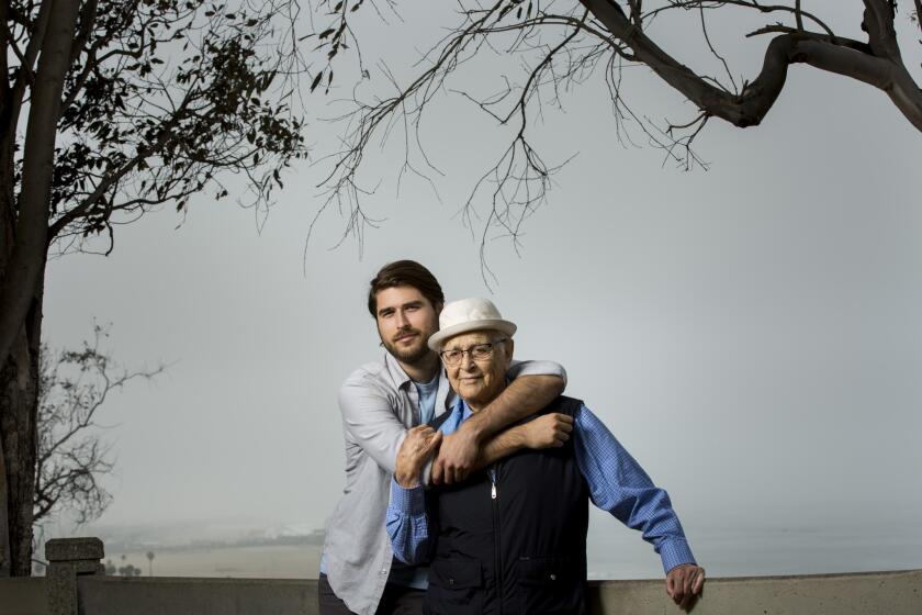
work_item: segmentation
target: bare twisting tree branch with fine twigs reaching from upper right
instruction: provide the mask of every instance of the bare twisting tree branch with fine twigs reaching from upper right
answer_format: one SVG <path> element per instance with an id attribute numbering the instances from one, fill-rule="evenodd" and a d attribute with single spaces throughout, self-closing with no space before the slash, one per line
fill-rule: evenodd
<path id="1" fill-rule="evenodd" d="M 915 0 L 915 3 L 919 7 L 922 0 Z M 339 150 L 322 159 L 329 161 L 330 171 L 322 182 L 327 198 L 317 217 L 331 208 L 344 215 L 347 226 L 340 242 L 355 235 L 361 245 L 364 227 L 374 226 L 376 222 L 366 215 L 362 200 L 374 192 L 378 183 L 373 180 L 371 188 L 359 183 L 364 154 L 372 139 L 384 143 L 394 130 L 404 127 L 398 180 L 405 170 L 417 172 L 411 163 L 411 145 L 416 147 L 413 155 L 418 154 L 434 168 L 419 145 L 419 126 L 425 109 L 441 92 L 462 97 L 499 126 L 511 128 L 510 142 L 501 148 L 486 171 L 475 177 L 471 192 L 459 208 L 460 217 L 472 235 L 475 235 L 474 225 L 479 225 L 476 235 L 480 235 L 482 256 L 486 243 L 494 238 L 494 231 L 509 238 L 517 248 L 521 222 L 546 199 L 551 171 L 556 167 L 546 165 L 529 143 L 530 126 L 541 119 L 548 102 L 559 105 L 561 89 L 580 85 L 599 64 L 606 66 L 605 82 L 612 102 L 618 141 L 634 144 L 631 132 L 639 131 L 649 144 L 663 150 L 664 163 L 675 161 L 685 169 L 707 167 L 693 144 L 711 118 L 738 127 L 762 123 L 780 96 L 788 67 L 792 64 L 809 65 L 880 89 L 910 123 L 922 131 L 922 93 L 899 56 L 892 0 L 864 0 L 863 19 L 868 41 L 837 35 L 820 15 L 805 10 L 800 0 L 785 4 L 765 4 L 757 0 L 645 3 L 641 0 L 558 0 L 541 3 L 535 10 L 532 3 L 522 0 L 486 3 L 459 0 L 457 4 L 461 21 L 424 54 L 423 68 L 407 85 L 398 85 L 387 75 L 394 94 L 371 102 L 356 98 L 353 111 L 339 118 L 346 125 L 345 136 Z M 766 23 L 747 35 L 771 34 L 772 38 L 765 46 L 758 72 L 741 83 L 708 29 L 706 11 L 719 9 L 786 20 Z M 708 76 L 694 70 L 661 46 L 649 30 L 657 18 L 690 11 L 699 19 L 697 30 L 720 67 L 719 75 Z M 335 22 L 318 37 L 319 47 L 328 51 L 330 59 L 341 55 L 348 36 L 352 35 L 349 19 L 347 13 L 338 12 Z M 745 35 L 745 32 L 740 34 Z M 499 75 L 505 88 L 485 97 L 474 93 L 470 87 L 448 85 L 451 76 L 461 72 L 468 62 L 487 54 L 496 54 L 497 59 L 503 56 L 521 58 L 524 68 L 518 79 Z M 693 119 L 659 123 L 629 107 L 622 85 L 623 69 L 638 65 L 651 69 L 690 101 L 697 108 Z M 479 75 L 483 76 L 483 72 Z M 415 133 L 412 138 L 411 132 Z M 482 266 L 486 280 L 490 271 L 485 260 Z"/>

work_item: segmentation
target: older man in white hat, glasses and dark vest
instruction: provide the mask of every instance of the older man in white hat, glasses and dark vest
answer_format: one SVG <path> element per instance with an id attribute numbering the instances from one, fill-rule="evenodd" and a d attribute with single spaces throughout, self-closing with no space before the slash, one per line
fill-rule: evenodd
<path id="1" fill-rule="evenodd" d="M 424 613 L 585 613 L 591 499 L 653 544 L 667 593 L 687 608 L 705 571 L 668 495 L 578 400 L 560 396 L 542 411 L 573 417 L 563 446 L 519 452 L 464 483 L 424 493 L 421 469 L 441 434 L 506 388 L 515 331 L 490 301 L 466 299 L 446 304 L 440 332 L 429 338 L 461 399 L 451 414 L 404 440 L 387 508 L 395 557 L 431 561 Z"/>

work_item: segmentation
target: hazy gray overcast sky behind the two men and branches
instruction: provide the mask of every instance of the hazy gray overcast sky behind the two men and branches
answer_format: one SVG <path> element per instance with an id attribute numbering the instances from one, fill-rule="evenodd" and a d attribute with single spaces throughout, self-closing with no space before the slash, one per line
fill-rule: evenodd
<path id="1" fill-rule="evenodd" d="M 835 7 L 859 36 L 845 19 L 859 2 L 813 4 Z M 404 66 L 435 42 L 413 20 L 438 15 L 405 16 L 409 34 L 371 37 L 366 53 L 386 43 L 392 67 Z M 719 37 L 735 74 L 752 77 L 765 42 L 734 51 L 738 31 Z M 917 38 L 902 44 L 919 79 Z M 689 119 L 678 94 L 632 70 L 634 105 Z M 881 92 L 795 66 L 760 127 L 712 121 L 697 143 L 709 170 L 685 172 L 618 143 L 600 78 L 563 102 L 536 135 L 549 163 L 577 156 L 519 254 L 491 243 L 493 294 L 454 214 L 503 133 L 451 96 L 424 133 L 446 172 L 441 202 L 423 181 L 397 197 L 400 152 L 372 156 L 369 177 L 384 181 L 368 211 L 383 221 L 361 258 L 351 241 L 329 249 L 344 225 L 335 212 L 305 250 L 322 203 L 305 165 L 284 178 L 261 232 L 254 212 L 202 194 L 184 221 L 167 208 L 119 227 L 110 257 L 52 261 L 48 343 L 76 345 L 95 320 L 112 323 L 122 364 L 170 364 L 105 407 L 117 469 L 100 525 L 322 527 L 344 484 L 338 387 L 381 356 L 368 280 L 414 258 L 449 299 L 491 297 L 519 325 L 519 358 L 564 365 L 567 393 L 670 491 L 699 559 L 737 549 L 747 570 L 798 571 L 795 552 L 760 566 L 746 537 L 792 533 L 806 549 L 845 528 L 864 547 L 844 561 L 831 551 L 830 571 L 922 567 L 919 133 Z M 336 128 L 312 126 L 322 152 Z M 592 532 L 607 540 L 616 525 L 597 516 Z M 739 572 L 734 562 L 709 570 Z"/>

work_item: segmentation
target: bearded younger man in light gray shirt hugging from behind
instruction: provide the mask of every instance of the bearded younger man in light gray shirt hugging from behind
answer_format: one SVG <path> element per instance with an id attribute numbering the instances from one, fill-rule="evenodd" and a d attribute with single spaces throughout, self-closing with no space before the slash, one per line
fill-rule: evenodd
<path id="1" fill-rule="evenodd" d="M 353 371 L 339 392 L 346 487 L 327 523 L 318 583 L 322 615 L 420 612 L 427 569 L 394 561 L 383 521 L 406 431 L 453 405 L 445 369 L 427 346 L 443 302 L 438 280 L 413 260 L 385 265 L 369 284 L 368 310 L 386 354 Z M 560 394 L 564 372 L 556 364 L 535 361 L 511 366 L 507 376 L 514 379 L 508 389 L 442 443 L 434 477 L 461 480 L 474 463 L 521 446 L 547 446 L 549 435 L 569 427 L 570 417 L 549 416 L 501 432 Z"/>

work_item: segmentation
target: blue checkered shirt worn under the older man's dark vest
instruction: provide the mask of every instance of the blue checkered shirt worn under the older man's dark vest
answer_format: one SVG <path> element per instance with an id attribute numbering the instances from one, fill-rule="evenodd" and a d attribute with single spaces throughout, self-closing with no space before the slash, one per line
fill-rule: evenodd
<path id="1" fill-rule="evenodd" d="M 471 410 L 463 400 L 458 400 L 439 429 L 452 434 L 469 416 Z M 573 418 L 576 465 L 586 479 L 593 503 L 628 527 L 639 529 L 660 554 L 664 571 L 695 563 L 668 494 L 653 484 L 640 463 L 589 409 L 581 404 Z M 428 552 L 430 534 L 423 490 L 423 487 L 404 489 L 395 480 L 391 481 L 387 534 L 394 556 L 407 563 L 419 563 Z"/>

